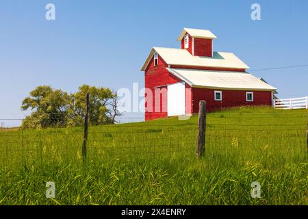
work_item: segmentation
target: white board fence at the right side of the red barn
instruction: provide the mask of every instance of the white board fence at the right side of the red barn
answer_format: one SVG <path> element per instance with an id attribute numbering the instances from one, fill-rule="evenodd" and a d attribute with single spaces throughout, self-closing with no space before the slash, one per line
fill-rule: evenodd
<path id="1" fill-rule="evenodd" d="M 274 107 L 280 110 L 308 109 L 308 96 L 274 100 Z"/>

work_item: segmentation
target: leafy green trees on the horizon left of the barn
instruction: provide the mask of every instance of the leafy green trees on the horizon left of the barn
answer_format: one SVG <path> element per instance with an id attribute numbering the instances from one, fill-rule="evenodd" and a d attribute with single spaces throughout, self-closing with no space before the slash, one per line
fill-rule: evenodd
<path id="1" fill-rule="evenodd" d="M 120 116 L 116 92 L 110 88 L 84 84 L 76 93 L 70 94 L 51 86 L 38 86 L 32 90 L 21 105 L 21 110 L 32 111 L 23 120 L 22 126 L 46 128 L 82 125 L 87 93 L 90 94 L 89 125 L 116 123 L 116 116 Z"/>

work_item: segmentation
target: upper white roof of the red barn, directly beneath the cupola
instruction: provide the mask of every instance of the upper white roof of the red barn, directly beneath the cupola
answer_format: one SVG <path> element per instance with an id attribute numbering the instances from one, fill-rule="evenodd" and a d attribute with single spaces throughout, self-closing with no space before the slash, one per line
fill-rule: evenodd
<path id="1" fill-rule="evenodd" d="M 214 52 L 213 57 L 201 57 L 190 54 L 190 52 L 186 49 L 153 47 L 141 70 L 146 69 L 146 66 L 148 66 L 151 58 L 153 57 L 153 53 L 155 52 L 157 52 L 162 59 L 170 65 L 242 69 L 249 68 L 233 53 Z"/>

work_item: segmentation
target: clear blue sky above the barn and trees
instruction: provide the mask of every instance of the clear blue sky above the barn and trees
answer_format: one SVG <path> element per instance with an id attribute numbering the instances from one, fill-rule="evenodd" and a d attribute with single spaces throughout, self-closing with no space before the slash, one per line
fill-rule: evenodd
<path id="1" fill-rule="evenodd" d="M 47 3 L 55 21 L 45 19 Z M 251 20 L 253 3 L 261 21 Z M 179 48 L 183 27 L 210 29 L 214 51 L 233 52 L 251 69 L 308 64 L 307 9 L 305 0 L 1 0 L 0 118 L 20 118 L 21 101 L 42 84 L 67 92 L 83 83 L 142 88 L 151 47 Z M 251 73 L 279 88 L 280 98 L 308 95 L 308 66 Z"/>

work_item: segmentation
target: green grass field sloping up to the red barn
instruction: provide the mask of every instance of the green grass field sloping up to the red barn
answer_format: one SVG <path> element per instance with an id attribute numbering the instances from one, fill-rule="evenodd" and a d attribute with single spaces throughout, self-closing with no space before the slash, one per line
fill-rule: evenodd
<path id="1" fill-rule="evenodd" d="M 197 116 L 0 132 L 0 205 L 307 205 L 307 110 L 240 107 Z M 55 198 L 47 198 L 47 181 Z M 261 198 L 251 197 L 251 183 Z"/>

